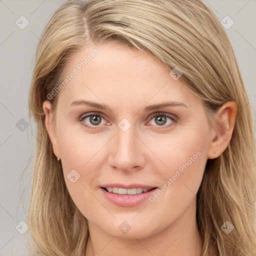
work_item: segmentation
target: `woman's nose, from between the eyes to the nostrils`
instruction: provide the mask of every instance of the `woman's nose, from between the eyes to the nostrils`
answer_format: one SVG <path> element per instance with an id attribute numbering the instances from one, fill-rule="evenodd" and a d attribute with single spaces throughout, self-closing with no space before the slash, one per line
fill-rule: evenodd
<path id="1" fill-rule="evenodd" d="M 111 139 L 108 164 L 122 171 L 139 170 L 145 165 L 146 146 L 140 140 L 138 134 L 135 134 L 133 126 L 123 131 L 117 127 L 117 132 Z"/>

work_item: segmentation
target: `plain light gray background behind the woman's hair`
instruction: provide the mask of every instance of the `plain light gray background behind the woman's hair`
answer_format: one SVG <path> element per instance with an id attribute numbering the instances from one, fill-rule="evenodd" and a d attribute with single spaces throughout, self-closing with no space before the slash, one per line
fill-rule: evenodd
<path id="1" fill-rule="evenodd" d="M 30 155 L 36 142 L 34 123 L 25 126 L 29 122 L 28 90 L 38 39 L 52 12 L 62 2 L 0 0 L 0 256 L 19 256 L 26 252 L 24 235 L 15 226 L 25 220 L 29 196 L 26 185 L 32 166 Z M 255 116 L 256 0 L 205 2 L 220 21 L 226 15 L 234 21 L 226 32 Z M 24 29 L 15 23 L 21 15 L 29 21 Z M 18 224 L 20 226 L 24 228 L 24 224 Z"/>

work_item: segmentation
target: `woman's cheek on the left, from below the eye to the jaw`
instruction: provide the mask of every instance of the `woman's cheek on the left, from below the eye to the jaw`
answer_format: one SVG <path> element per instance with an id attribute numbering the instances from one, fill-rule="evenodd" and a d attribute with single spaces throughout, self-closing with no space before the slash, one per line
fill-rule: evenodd
<path id="1" fill-rule="evenodd" d="M 67 126 L 66 126 L 67 127 Z M 99 138 L 98 134 L 89 134 L 82 129 L 60 130 L 58 146 L 61 155 L 63 175 L 69 194 L 84 214 L 91 211 L 86 205 L 94 205 L 95 198 L 91 196 L 92 183 L 99 175 L 100 149 L 106 144 L 107 138 Z"/>

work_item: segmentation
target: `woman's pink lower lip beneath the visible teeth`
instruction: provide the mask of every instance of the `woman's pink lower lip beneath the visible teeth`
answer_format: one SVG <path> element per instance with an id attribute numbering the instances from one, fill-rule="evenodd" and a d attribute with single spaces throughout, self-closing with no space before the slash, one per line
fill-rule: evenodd
<path id="1" fill-rule="evenodd" d="M 136 206 L 141 202 L 148 199 L 150 195 L 155 193 L 157 188 L 154 188 L 147 192 L 142 192 L 140 194 L 116 194 L 106 191 L 104 188 L 100 187 L 104 196 L 111 202 L 119 206 Z"/>

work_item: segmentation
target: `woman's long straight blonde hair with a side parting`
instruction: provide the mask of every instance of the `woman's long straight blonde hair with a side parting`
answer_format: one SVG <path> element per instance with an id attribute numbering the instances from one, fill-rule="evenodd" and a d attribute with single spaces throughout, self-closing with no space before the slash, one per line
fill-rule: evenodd
<path id="1" fill-rule="evenodd" d="M 63 68 L 86 43 L 118 41 L 149 52 L 203 100 L 209 120 L 228 100 L 238 113 L 224 152 L 208 159 L 197 192 L 196 221 L 202 255 L 256 253 L 255 138 L 248 97 L 228 37 L 201 0 L 67 1 L 47 23 L 36 49 L 29 112 L 37 146 L 27 221 L 34 254 L 81 255 L 88 239 L 86 218 L 73 203 L 52 150 L 42 103 L 61 81 Z M 52 97 L 52 112 L 59 93 Z M 234 229 L 226 234 L 221 225 Z M 28 244 L 29 246 L 29 244 Z"/>

